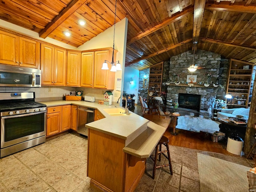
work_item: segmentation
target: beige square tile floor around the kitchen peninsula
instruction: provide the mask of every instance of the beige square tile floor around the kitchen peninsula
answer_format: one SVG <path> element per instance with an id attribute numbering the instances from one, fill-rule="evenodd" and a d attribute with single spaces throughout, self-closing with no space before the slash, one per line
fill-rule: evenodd
<path id="1" fill-rule="evenodd" d="M 158 168 L 152 180 L 153 161 L 136 192 L 199 192 L 197 152 L 252 167 L 244 157 L 170 146 L 172 167 Z M 86 176 L 87 139 L 74 133 L 48 139 L 44 144 L 0 159 L 1 192 L 94 192 Z M 166 161 L 162 158 L 162 162 Z M 217 171 L 217 170 L 216 170 Z"/>

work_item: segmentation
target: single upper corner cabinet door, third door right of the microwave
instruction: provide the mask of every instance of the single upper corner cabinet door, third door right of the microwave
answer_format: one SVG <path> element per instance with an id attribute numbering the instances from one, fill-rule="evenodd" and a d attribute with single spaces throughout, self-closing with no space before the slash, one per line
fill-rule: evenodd
<path id="1" fill-rule="evenodd" d="M 68 51 L 66 86 L 80 86 L 81 52 Z"/>

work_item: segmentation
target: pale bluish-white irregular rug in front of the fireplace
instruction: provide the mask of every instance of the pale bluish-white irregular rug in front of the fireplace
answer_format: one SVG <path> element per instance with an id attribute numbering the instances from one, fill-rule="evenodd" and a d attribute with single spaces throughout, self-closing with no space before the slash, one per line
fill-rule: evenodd
<path id="1" fill-rule="evenodd" d="M 190 115 L 184 115 L 178 117 L 178 124 L 176 126 L 177 129 L 183 129 L 193 132 L 206 132 L 206 133 L 214 133 L 215 131 L 219 131 L 220 122 L 213 121 L 211 119 L 203 118 L 203 117 L 193 117 Z"/>

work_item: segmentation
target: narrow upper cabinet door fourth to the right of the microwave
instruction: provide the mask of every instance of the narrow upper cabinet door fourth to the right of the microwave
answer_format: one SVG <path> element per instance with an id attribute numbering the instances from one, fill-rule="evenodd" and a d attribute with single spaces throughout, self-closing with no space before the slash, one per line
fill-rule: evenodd
<path id="1" fill-rule="evenodd" d="M 81 86 L 92 87 L 94 52 L 82 53 Z"/>

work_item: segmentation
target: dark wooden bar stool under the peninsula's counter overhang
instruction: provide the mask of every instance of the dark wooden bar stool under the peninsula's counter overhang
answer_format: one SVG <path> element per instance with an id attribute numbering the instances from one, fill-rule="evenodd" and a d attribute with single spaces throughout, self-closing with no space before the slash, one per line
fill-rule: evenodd
<path id="1" fill-rule="evenodd" d="M 165 136 L 162 136 L 162 138 L 160 139 L 160 141 L 158 142 L 158 144 L 156 145 L 156 152 L 155 152 L 155 155 L 150 155 L 150 158 L 154 161 L 154 168 L 153 168 L 153 176 L 152 178 L 154 179 L 155 176 L 156 176 L 156 168 L 160 168 L 160 167 L 166 167 L 166 166 L 169 166 L 170 168 L 170 173 L 171 175 L 173 174 L 172 173 L 172 162 L 171 162 L 171 157 L 170 157 L 170 150 L 169 150 L 169 146 L 168 146 L 168 143 L 169 143 L 169 139 Z M 166 146 L 166 149 L 167 150 L 164 150 L 162 151 L 162 144 L 164 146 Z M 159 146 L 159 150 L 158 150 L 158 146 Z M 165 152 L 167 152 L 167 155 L 164 154 Z M 159 161 L 161 161 L 161 154 L 163 154 L 165 156 L 165 158 L 168 159 L 168 164 L 164 164 L 164 165 L 161 165 L 161 166 L 156 166 L 156 161 L 157 161 L 157 157 L 159 155 Z M 155 156 L 155 158 L 153 158 L 153 156 Z"/>

